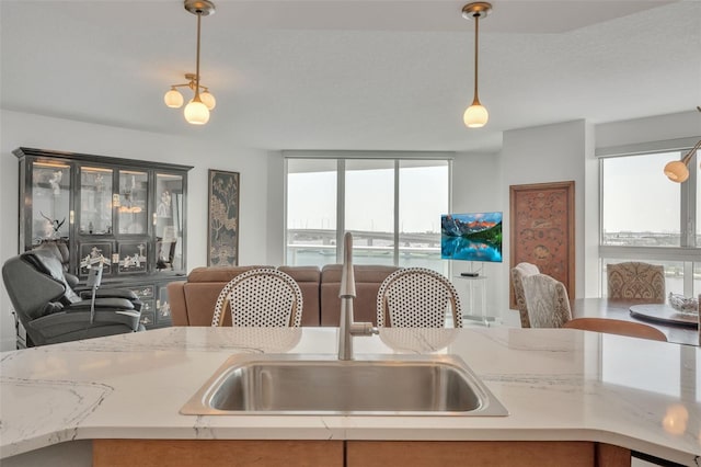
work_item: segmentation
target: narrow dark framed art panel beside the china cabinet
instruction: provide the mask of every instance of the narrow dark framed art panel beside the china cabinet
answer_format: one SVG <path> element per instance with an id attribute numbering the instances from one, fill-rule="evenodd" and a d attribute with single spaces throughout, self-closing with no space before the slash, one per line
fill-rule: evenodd
<path id="1" fill-rule="evenodd" d="M 209 169 L 207 265 L 239 264 L 239 172 Z"/>

